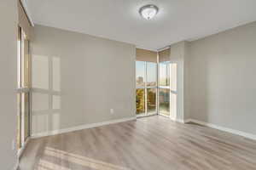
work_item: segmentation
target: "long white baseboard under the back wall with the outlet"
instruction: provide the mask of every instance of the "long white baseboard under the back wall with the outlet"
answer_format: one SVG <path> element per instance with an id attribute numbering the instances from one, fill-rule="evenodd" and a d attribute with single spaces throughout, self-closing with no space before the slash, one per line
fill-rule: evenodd
<path id="1" fill-rule="evenodd" d="M 109 125 L 109 124 L 114 124 L 114 123 L 119 123 L 119 122 L 133 121 L 133 120 L 136 120 L 136 119 L 137 119 L 136 116 L 132 116 L 132 117 L 113 120 L 113 121 L 96 122 L 96 123 L 91 123 L 91 124 L 80 125 L 80 126 L 77 126 L 77 127 L 69 127 L 69 128 L 63 128 L 63 129 L 60 129 L 60 130 L 48 131 L 48 132 L 44 132 L 44 133 L 34 133 L 34 134 L 32 134 L 31 138 L 36 139 L 36 138 L 51 136 L 51 135 L 55 135 L 55 134 L 70 133 L 70 132 L 73 132 L 73 131 L 83 130 L 83 129 L 86 129 L 86 128 L 101 127 L 103 125 Z"/>

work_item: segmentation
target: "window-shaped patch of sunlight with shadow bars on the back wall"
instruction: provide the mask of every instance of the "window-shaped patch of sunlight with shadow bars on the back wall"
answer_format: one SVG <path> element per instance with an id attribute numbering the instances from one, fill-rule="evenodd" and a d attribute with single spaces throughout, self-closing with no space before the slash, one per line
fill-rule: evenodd
<path id="1" fill-rule="evenodd" d="M 61 59 L 32 55 L 32 134 L 60 129 Z"/>

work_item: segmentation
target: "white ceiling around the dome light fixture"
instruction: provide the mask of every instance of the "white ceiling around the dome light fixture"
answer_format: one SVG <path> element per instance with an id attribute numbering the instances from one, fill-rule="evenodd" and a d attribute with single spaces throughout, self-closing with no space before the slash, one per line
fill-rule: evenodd
<path id="1" fill-rule="evenodd" d="M 153 20 L 138 9 L 160 8 Z M 28 0 L 36 24 L 158 49 L 256 20 L 256 0 Z"/>

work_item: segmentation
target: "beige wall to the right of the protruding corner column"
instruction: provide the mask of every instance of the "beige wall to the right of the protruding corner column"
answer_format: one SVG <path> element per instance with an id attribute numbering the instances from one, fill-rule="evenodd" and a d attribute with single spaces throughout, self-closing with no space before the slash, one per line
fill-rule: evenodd
<path id="1" fill-rule="evenodd" d="M 256 134 L 256 22 L 190 42 L 190 117 Z"/>

